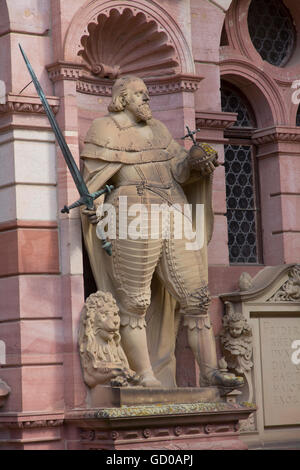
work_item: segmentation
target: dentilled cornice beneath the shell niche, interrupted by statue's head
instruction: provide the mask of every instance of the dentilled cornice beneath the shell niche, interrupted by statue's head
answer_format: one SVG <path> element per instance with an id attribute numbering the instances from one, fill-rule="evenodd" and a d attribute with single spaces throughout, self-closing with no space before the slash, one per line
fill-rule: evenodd
<path id="1" fill-rule="evenodd" d="M 59 80 L 76 81 L 76 90 L 97 96 L 111 96 L 114 80 L 93 76 L 82 64 L 57 62 L 47 66 L 49 78 L 53 82 Z M 156 79 L 145 79 L 151 96 L 177 92 L 195 92 L 203 77 L 197 75 L 178 74 Z"/>

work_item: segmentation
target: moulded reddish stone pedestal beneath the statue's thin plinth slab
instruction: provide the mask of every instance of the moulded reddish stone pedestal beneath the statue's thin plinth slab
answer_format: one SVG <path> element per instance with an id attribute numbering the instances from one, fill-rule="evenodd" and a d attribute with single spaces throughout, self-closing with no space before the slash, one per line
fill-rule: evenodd
<path id="1" fill-rule="evenodd" d="M 253 406 L 224 402 L 156 404 L 73 410 L 66 416 L 68 449 L 242 450 L 238 422 Z"/>

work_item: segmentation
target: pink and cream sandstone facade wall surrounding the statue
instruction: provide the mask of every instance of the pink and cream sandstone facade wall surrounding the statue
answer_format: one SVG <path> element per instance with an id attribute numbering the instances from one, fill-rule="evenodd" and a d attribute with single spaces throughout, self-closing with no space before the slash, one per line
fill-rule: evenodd
<path id="1" fill-rule="evenodd" d="M 280 70 L 261 60 L 246 25 L 249 2 L 134 2 L 175 38 L 181 76 L 198 77 L 194 92 L 189 89 L 191 79 L 186 81 L 189 85 L 181 81 L 173 93 L 167 81 L 162 94 L 153 93 L 151 105 L 155 117 L 177 139 L 186 125 L 201 127 L 198 138 L 212 143 L 222 162 L 224 130 L 235 117 L 221 112 L 220 78 L 243 91 L 258 122 L 254 143 L 264 264 L 299 262 L 300 130 L 295 127 L 297 106 L 291 102 L 291 84 L 300 77 L 300 66 L 296 58 Z M 4 101 L 0 97 L 0 340 L 6 344 L 0 377 L 12 389 L 0 410 L 0 422 L 8 423 L 0 444 L 5 448 L 55 449 L 65 446 L 64 436 L 76 440 L 72 431 L 64 435 L 62 419 L 66 410 L 85 406 L 87 392 L 77 351 L 84 302 L 79 214 L 76 210 L 69 216 L 60 213 L 64 204 L 77 199 L 77 192 L 47 118 L 40 112 L 33 85 L 19 96 L 30 79 L 18 43 L 58 111 L 59 125 L 79 164 L 89 123 L 105 112 L 109 97 L 76 90 L 80 68 L 74 48 L 90 11 L 112 3 L 118 7 L 133 2 L 7 0 L 0 5 L 0 83 L 6 89 Z M 294 14 L 299 13 L 296 1 L 287 3 Z M 220 48 L 224 20 L 229 45 Z M 64 61 L 72 63 L 69 71 L 63 70 Z M 51 64 L 58 71 L 56 78 L 48 74 Z M 243 271 L 254 275 L 262 266 L 229 266 L 224 167 L 215 173 L 214 211 L 209 283 L 218 336 L 223 314 L 219 294 L 237 290 Z M 189 367 L 186 372 L 192 358 L 184 334 L 178 345 L 178 383 L 195 385 L 197 369 Z"/>

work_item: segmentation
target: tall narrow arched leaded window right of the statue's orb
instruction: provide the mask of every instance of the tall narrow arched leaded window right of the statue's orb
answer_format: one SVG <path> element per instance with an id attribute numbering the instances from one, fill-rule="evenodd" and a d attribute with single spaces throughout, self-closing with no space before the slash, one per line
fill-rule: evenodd
<path id="1" fill-rule="evenodd" d="M 261 262 L 258 233 L 259 199 L 251 135 L 256 127 L 246 98 L 222 82 L 222 111 L 237 113 L 237 121 L 225 137 L 226 205 L 230 263 Z"/>

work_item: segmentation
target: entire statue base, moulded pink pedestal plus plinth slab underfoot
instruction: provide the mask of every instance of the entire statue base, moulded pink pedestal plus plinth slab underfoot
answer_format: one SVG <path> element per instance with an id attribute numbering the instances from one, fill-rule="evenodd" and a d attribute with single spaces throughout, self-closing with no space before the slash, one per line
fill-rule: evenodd
<path id="1" fill-rule="evenodd" d="M 106 390 L 109 406 L 67 413 L 65 423 L 72 434 L 69 449 L 247 449 L 239 438 L 239 421 L 256 408 L 222 401 L 217 387 L 101 390 Z M 100 400 L 100 392 L 100 387 L 95 388 L 94 400 Z M 103 403 L 103 394 L 101 400 Z"/>

